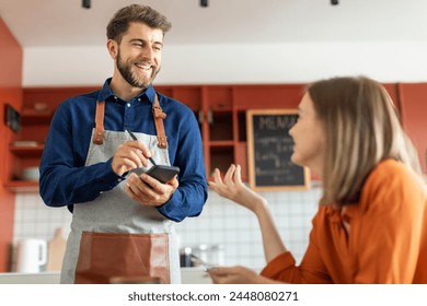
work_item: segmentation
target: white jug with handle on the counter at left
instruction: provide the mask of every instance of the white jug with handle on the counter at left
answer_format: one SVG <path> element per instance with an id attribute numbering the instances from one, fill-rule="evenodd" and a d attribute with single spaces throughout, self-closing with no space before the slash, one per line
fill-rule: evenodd
<path id="1" fill-rule="evenodd" d="M 19 242 L 16 249 L 16 272 L 37 273 L 47 261 L 46 240 L 25 238 Z"/>

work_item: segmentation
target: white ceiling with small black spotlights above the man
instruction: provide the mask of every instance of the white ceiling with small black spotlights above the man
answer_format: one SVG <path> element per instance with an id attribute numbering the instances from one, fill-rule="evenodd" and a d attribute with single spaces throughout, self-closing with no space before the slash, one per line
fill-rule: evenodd
<path id="1" fill-rule="evenodd" d="M 173 26 L 165 43 L 426 42 L 427 0 L 0 0 L 0 16 L 25 47 L 100 46 L 113 13 L 149 4 Z"/>

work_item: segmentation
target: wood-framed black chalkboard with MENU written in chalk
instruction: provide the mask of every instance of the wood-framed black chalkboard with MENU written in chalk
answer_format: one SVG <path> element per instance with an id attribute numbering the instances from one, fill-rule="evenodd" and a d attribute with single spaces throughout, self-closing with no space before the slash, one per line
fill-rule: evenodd
<path id="1" fill-rule="evenodd" d="M 308 189 L 309 169 L 293 164 L 290 128 L 296 109 L 247 110 L 250 186 L 254 190 Z"/>

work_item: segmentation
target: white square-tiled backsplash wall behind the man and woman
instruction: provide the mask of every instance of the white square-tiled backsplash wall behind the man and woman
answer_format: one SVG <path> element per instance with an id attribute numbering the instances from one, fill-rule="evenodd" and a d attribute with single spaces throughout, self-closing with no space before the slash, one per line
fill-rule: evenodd
<path id="1" fill-rule="evenodd" d="M 311 219 L 321 189 L 259 192 L 268 200 L 276 225 L 287 248 L 299 262 L 308 245 Z M 67 208 L 48 208 L 37 193 L 18 193 L 15 201 L 14 245 L 21 238 L 50 239 L 55 229 L 69 234 L 71 213 Z M 252 212 L 209 191 L 203 213 L 176 224 L 181 247 L 219 245 L 223 264 L 241 264 L 255 270 L 265 266 L 257 221 Z"/>

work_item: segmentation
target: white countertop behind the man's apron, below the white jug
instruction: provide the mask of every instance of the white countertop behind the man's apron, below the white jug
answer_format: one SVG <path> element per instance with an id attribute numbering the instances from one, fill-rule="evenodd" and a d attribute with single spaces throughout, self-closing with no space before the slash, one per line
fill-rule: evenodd
<path id="1" fill-rule="evenodd" d="M 203 268 L 181 268 L 183 284 L 210 284 L 211 280 Z M 58 284 L 59 272 L 0 273 L 0 284 Z"/>

